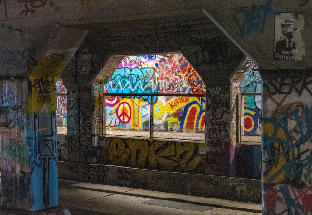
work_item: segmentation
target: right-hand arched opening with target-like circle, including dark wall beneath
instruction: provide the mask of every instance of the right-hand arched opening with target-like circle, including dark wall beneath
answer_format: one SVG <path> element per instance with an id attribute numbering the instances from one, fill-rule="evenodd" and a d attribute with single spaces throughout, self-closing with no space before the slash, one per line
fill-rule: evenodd
<path id="1" fill-rule="evenodd" d="M 233 175 L 261 179 L 262 78 L 257 64 L 245 58 L 231 82 Z"/>

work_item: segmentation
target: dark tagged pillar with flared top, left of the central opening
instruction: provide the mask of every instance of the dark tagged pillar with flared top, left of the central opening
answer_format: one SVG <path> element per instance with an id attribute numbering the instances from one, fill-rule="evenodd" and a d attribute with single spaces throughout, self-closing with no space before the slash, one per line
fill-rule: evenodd
<path id="1" fill-rule="evenodd" d="M 98 159 L 97 136 L 102 134 L 99 126 L 102 126 L 103 100 L 94 98 L 92 79 L 101 71 L 107 54 L 97 48 L 89 47 L 86 39 L 62 74 L 67 88 L 68 160 L 71 161 L 96 163 Z M 99 108 L 95 110 L 95 106 Z"/>

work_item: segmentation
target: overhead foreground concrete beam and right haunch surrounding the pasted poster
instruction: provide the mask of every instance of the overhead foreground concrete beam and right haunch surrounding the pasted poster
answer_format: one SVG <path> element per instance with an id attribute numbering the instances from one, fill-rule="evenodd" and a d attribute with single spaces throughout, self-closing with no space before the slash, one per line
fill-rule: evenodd
<path id="1" fill-rule="evenodd" d="M 205 9 L 263 69 L 312 68 L 312 1 L 310 0 L 49 0 L 0 1 L 1 26 L 32 33 L 55 25 L 112 31 L 208 20 Z M 306 53 L 296 62 L 273 61 L 275 13 L 304 17 L 301 31 Z M 242 32 L 244 25 L 250 29 Z M 144 28 L 144 27 L 142 27 Z M 244 31 L 244 30 L 243 30 Z"/>

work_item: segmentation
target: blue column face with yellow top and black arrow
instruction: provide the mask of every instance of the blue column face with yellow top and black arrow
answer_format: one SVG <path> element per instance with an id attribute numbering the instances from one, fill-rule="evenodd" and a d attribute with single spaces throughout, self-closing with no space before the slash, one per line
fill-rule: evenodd
<path id="1" fill-rule="evenodd" d="M 29 129 L 34 164 L 31 175 L 32 209 L 58 205 L 56 92 L 58 77 L 30 77 Z"/>

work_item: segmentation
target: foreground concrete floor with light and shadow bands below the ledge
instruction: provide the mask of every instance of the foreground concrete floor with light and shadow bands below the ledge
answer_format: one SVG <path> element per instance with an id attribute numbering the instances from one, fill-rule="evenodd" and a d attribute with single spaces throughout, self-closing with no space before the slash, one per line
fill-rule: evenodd
<path id="1" fill-rule="evenodd" d="M 59 205 L 72 215 L 260 215 L 261 205 L 59 180 Z M 28 214 L 0 207 L 1 215 Z"/>

